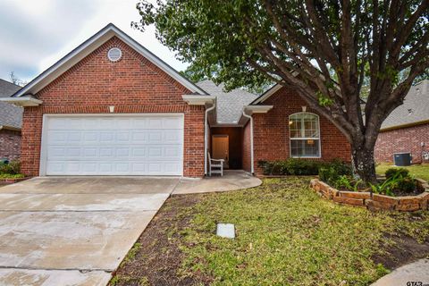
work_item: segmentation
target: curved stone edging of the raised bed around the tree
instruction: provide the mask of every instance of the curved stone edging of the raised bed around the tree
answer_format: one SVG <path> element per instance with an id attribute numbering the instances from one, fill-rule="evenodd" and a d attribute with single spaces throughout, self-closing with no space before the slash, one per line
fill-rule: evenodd
<path id="1" fill-rule="evenodd" d="M 310 188 L 314 189 L 321 197 L 343 205 L 366 206 L 368 209 L 414 212 L 428 209 L 429 201 L 429 184 L 427 181 L 421 179 L 416 179 L 416 181 L 425 191 L 416 196 L 406 197 L 390 197 L 374 194 L 369 191 L 338 190 L 318 179 L 310 181 Z"/>

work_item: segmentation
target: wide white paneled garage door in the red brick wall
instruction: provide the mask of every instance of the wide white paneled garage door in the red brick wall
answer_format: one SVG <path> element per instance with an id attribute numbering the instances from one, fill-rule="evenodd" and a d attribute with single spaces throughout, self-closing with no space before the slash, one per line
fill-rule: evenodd
<path id="1" fill-rule="evenodd" d="M 181 175 L 183 114 L 46 116 L 42 175 Z"/>

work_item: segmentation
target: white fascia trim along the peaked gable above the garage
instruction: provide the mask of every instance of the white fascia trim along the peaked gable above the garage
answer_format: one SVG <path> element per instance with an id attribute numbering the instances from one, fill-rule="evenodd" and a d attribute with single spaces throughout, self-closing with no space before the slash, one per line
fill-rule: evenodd
<path id="1" fill-rule="evenodd" d="M 80 46 L 73 49 L 68 55 L 65 55 L 61 60 L 56 62 L 54 65 L 49 67 L 46 71 L 43 71 L 38 77 L 34 80 L 31 80 L 29 84 L 17 91 L 13 97 L 22 97 L 28 94 L 36 94 L 42 88 L 45 88 L 50 82 L 58 78 L 63 72 L 68 71 L 73 65 L 79 63 L 87 55 L 91 54 L 97 49 L 98 46 L 103 45 L 107 40 L 113 38 L 114 36 L 120 38 L 127 45 L 131 46 L 140 55 L 143 55 L 147 60 L 154 63 L 161 70 L 170 75 L 174 80 L 177 80 L 185 88 L 188 88 L 191 92 L 196 92 L 198 94 L 206 95 L 206 92 L 198 88 L 197 85 L 184 78 L 178 71 L 175 71 L 167 63 L 164 63 L 156 55 L 152 54 L 145 48 L 141 46 L 133 38 L 130 38 L 125 34 L 121 29 L 118 29 L 114 24 L 108 24 L 104 29 L 101 29 L 91 38 L 88 38 Z"/>

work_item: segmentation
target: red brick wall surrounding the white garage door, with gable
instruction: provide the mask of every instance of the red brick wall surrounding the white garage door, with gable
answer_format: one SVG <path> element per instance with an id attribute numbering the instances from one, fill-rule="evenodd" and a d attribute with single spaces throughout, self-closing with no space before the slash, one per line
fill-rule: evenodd
<path id="1" fill-rule="evenodd" d="M 122 48 L 122 59 L 111 63 L 107 51 Z M 22 172 L 38 175 L 43 114 L 105 114 L 114 105 L 118 114 L 185 114 L 185 176 L 204 175 L 204 106 L 187 105 L 181 96 L 189 90 L 112 38 L 36 95 L 43 105 L 24 110 Z"/>

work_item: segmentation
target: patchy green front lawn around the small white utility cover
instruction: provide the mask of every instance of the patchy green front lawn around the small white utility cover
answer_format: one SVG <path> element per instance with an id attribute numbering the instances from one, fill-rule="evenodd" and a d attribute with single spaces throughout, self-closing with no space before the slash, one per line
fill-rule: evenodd
<path id="1" fill-rule="evenodd" d="M 159 275 L 167 281 L 177 275 L 182 285 L 369 285 L 388 273 L 378 262 L 390 259 L 383 249 L 396 242 L 386 236 L 429 242 L 429 212 L 372 213 L 340 206 L 319 198 L 308 182 L 266 179 L 254 189 L 189 195 L 200 196 L 189 206 L 175 203 L 184 196 L 169 198 L 111 285 L 151 284 Z M 237 238 L 217 237 L 216 223 L 234 223 Z M 150 232 L 166 224 L 160 236 Z M 156 245 L 164 237 L 168 242 Z M 163 266 L 174 248 L 181 251 L 177 266 Z M 192 283 L 180 283 L 189 277 Z"/>

